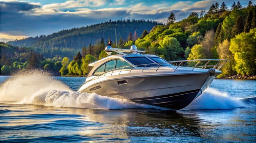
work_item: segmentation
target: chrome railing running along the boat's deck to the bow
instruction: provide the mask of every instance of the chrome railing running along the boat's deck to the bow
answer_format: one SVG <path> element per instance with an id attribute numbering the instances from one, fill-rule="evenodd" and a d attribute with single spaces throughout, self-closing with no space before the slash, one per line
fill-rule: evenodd
<path id="1" fill-rule="evenodd" d="M 136 68 L 136 67 L 144 66 L 144 68 L 143 68 L 142 71 L 141 71 L 141 72 L 143 72 L 144 69 L 145 69 L 148 65 L 157 65 L 157 69 L 155 70 L 155 72 L 157 72 L 158 69 L 159 69 L 159 67 L 161 67 L 161 65 L 163 65 L 163 64 L 168 64 L 168 63 L 169 63 L 169 64 L 172 64 L 172 65 L 174 65 L 174 66 L 176 67 L 176 68 L 174 69 L 174 71 L 173 71 L 173 72 L 175 72 L 179 67 L 183 67 L 183 63 L 184 63 L 184 62 L 193 62 L 193 61 L 198 61 L 198 62 L 195 64 L 195 66 L 193 67 L 193 69 L 192 69 L 191 71 L 193 71 L 195 68 L 199 68 L 199 67 L 201 67 L 202 69 L 206 69 L 207 67 L 212 67 L 212 68 L 214 68 L 214 69 L 219 70 L 219 69 L 220 69 L 225 63 L 227 63 L 227 61 L 229 61 L 229 60 L 222 60 L 222 59 L 200 59 L 200 60 L 182 60 L 182 61 L 170 61 L 170 62 L 165 62 L 165 63 L 148 63 L 148 64 L 141 64 L 141 65 L 130 65 L 130 66 L 126 66 L 126 67 L 119 67 L 119 68 L 111 69 L 111 70 L 109 70 L 109 71 L 107 71 L 107 72 L 103 72 L 102 74 L 99 74 L 98 76 L 95 76 L 94 78 L 92 78 L 92 79 L 90 79 L 90 80 L 88 80 L 88 81 L 86 81 L 86 82 L 89 82 L 89 81 L 98 79 L 98 78 L 101 77 L 101 76 L 102 76 L 101 78 L 103 78 L 103 77 L 106 76 L 106 73 L 109 73 L 109 72 L 111 72 L 110 76 L 112 76 L 113 72 L 114 72 L 115 70 L 119 70 L 119 69 L 121 69 L 121 70 L 119 71 L 119 74 L 121 74 L 122 69 L 130 69 L 130 71 L 129 71 L 129 74 L 130 74 L 131 71 L 132 71 L 132 69 L 134 69 L 134 68 Z M 199 64 L 200 62 L 202 62 L 202 61 L 207 61 L 207 63 L 204 64 L 204 65 L 198 66 L 198 64 Z M 218 62 L 216 65 L 208 65 L 211 61 L 219 61 L 219 62 Z M 220 64 L 221 62 L 223 62 L 223 63 Z M 177 64 L 175 65 L 174 63 L 178 63 L 178 65 L 177 65 Z"/>

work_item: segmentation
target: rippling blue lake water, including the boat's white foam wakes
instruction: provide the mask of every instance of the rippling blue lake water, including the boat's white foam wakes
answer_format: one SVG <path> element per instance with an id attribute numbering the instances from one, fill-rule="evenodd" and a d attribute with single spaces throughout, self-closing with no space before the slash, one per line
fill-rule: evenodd
<path id="1" fill-rule="evenodd" d="M 256 142 L 256 80 L 214 80 L 173 112 L 74 92 L 85 78 L 9 78 L 0 76 L 0 142 Z"/>

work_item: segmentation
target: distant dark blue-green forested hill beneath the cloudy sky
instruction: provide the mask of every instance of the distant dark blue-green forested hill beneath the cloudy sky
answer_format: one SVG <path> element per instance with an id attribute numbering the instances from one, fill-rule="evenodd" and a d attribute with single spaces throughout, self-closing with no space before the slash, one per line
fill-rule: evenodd
<path id="1" fill-rule="evenodd" d="M 97 39 L 103 38 L 104 41 L 108 39 L 115 41 L 115 28 L 117 29 L 117 40 L 120 38 L 126 40 L 129 33 L 132 33 L 133 37 L 137 38 L 143 30 L 150 31 L 155 25 L 159 25 L 159 23 L 149 20 L 109 20 L 100 24 L 61 30 L 47 36 L 29 37 L 8 43 L 20 47 L 31 47 L 37 49 L 37 51 L 45 48 L 72 48 L 77 50 L 85 46 L 88 47 L 90 43 L 94 44 Z"/>

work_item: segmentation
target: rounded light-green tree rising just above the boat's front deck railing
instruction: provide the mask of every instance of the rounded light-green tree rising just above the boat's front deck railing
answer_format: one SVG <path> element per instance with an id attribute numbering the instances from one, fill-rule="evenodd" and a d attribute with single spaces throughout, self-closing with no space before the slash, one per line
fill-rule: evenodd
<path id="1" fill-rule="evenodd" d="M 180 47 L 180 43 L 176 38 L 171 36 L 164 37 L 159 42 L 158 54 L 163 54 L 166 60 L 181 60 L 184 54 L 184 50 Z"/>

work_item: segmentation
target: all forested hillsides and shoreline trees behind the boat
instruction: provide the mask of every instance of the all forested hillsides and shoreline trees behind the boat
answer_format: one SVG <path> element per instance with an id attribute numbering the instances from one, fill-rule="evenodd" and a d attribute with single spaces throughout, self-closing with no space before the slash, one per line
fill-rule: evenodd
<path id="1" fill-rule="evenodd" d="M 152 29 L 142 30 L 144 24 L 152 26 Z M 116 25 L 123 37 L 118 34 L 119 40 L 117 45 L 113 42 L 113 48 L 130 48 L 131 45 L 136 45 L 138 50 L 145 50 L 146 54 L 155 54 L 166 61 L 229 59 L 221 69 L 223 74 L 218 78 L 255 79 L 256 5 L 251 1 L 245 7 L 239 1 L 234 2 L 231 9 L 227 8 L 225 2 L 216 2 L 209 6 L 207 12 L 192 12 L 178 22 L 175 13 L 171 12 L 166 24 L 149 20 L 110 20 L 92 26 L 62 30 L 52 35 L 1 42 L 0 74 L 45 69 L 54 76 L 85 77 L 91 70 L 89 63 L 107 56 L 104 49 L 110 40 L 106 38 L 106 32 L 104 38 L 94 37 L 94 41 L 84 39 L 85 35 L 93 34 L 95 30 L 99 35 L 107 28 L 112 31 L 107 35 L 114 37 Z M 127 26 L 133 31 L 129 31 Z M 138 27 L 140 30 L 136 30 Z M 86 44 L 81 45 L 82 39 Z M 29 47 L 24 47 L 24 43 Z M 188 63 L 189 66 L 193 64 Z"/>

